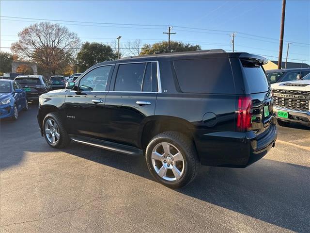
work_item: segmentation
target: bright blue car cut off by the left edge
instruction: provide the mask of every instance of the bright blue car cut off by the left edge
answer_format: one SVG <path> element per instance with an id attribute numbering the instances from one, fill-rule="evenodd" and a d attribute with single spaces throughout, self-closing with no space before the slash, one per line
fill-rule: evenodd
<path id="1" fill-rule="evenodd" d="M 18 119 L 21 110 L 28 110 L 26 92 L 13 80 L 0 80 L 0 119 L 12 117 Z"/>

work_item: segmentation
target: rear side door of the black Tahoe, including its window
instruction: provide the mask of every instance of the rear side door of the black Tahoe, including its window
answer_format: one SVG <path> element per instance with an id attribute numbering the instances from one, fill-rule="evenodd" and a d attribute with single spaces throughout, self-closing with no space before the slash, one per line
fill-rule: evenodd
<path id="1" fill-rule="evenodd" d="M 118 64 L 106 98 L 105 138 L 139 146 L 140 126 L 155 113 L 158 62 Z"/>

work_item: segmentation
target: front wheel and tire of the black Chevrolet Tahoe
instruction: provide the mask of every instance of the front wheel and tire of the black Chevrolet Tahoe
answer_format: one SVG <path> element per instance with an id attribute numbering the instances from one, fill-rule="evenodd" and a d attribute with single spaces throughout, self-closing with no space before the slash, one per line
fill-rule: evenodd
<path id="1" fill-rule="evenodd" d="M 49 113 L 43 120 L 43 134 L 48 145 L 52 148 L 63 148 L 70 143 L 70 137 L 65 131 L 59 113 Z"/>

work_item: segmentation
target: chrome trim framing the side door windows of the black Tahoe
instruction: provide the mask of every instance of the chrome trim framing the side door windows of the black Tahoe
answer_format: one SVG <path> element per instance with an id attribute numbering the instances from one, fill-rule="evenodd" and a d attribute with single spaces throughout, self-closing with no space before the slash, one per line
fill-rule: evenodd
<path id="1" fill-rule="evenodd" d="M 93 67 L 93 69 L 89 70 L 86 74 L 88 74 L 89 72 L 91 72 L 92 70 L 94 70 L 95 68 L 98 68 L 98 67 L 106 67 L 106 66 L 113 66 L 113 65 L 124 65 L 124 64 L 135 64 L 135 63 L 152 63 L 152 62 L 156 63 L 156 71 L 157 71 L 157 77 L 156 78 L 157 78 L 157 89 L 158 89 L 158 91 L 84 91 L 84 92 L 149 93 L 149 94 L 150 93 L 162 93 L 161 81 L 160 81 L 160 71 L 159 71 L 159 62 L 158 61 L 124 62 L 124 63 L 113 63 L 113 64 L 101 65 L 101 66 Z M 78 83 L 80 81 L 80 79 L 82 79 L 86 74 L 78 77 L 78 79 L 76 80 L 76 83 Z"/>

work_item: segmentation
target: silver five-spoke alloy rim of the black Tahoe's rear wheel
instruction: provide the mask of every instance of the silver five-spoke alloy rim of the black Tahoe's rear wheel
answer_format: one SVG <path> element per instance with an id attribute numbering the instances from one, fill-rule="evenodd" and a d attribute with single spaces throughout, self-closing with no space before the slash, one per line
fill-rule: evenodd
<path id="1" fill-rule="evenodd" d="M 152 151 L 151 159 L 157 175 L 166 181 L 177 181 L 184 173 L 184 157 L 171 143 L 158 143 Z"/>

